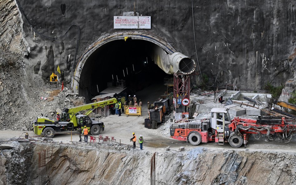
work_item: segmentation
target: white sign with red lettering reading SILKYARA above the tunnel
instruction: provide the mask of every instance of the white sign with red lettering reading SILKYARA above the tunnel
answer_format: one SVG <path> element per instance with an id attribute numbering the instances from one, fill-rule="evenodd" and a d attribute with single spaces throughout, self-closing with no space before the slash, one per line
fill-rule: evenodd
<path id="1" fill-rule="evenodd" d="M 114 16 L 116 29 L 151 29 L 151 16 Z"/>

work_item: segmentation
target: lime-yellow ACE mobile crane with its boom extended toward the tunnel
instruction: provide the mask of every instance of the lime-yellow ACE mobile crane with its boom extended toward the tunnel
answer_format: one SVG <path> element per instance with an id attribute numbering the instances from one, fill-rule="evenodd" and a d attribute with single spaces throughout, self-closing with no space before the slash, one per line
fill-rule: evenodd
<path id="1" fill-rule="evenodd" d="M 98 107 L 105 105 L 116 104 L 116 98 L 93 102 L 86 105 L 80 105 L 72 108 L 64 108 L 61 120 L 56 121 L 45 116 L 37 116 L 33 122 L 34 133 L 44 135 L 47 138 L 53 138 L 56 133 L 64 131 L 74 131 L 79 127 L 86 126 L 91 135 L 98 135 L 104 131 L 104 123 L 91 119 L 88 115 Z M 79 111 L 87 110 L 84 114 L 79 114 Z"/>

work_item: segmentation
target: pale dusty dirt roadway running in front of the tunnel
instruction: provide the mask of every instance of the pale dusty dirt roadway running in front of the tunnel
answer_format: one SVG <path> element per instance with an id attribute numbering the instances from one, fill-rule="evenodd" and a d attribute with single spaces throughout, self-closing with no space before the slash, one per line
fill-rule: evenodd
<path id="1" fill-rule="evenodd" d="M 144 150 L 148 151 L 164 151 L 167 146 L 171 149 L 178 150 L 180 147 L 185 147 L 186 150 L 193 148 L 203 147 L 211 149 L 225 149 L 225 150 L 260 150 L 260 151 L 278 151 L 278 152 L 292 152 L 296 153 L 295 144 L 296 142 L 291 141 L 290 143 L 279 143 L 277 141 L 267 142 L 267 141 L 257 141 L 249 140 L 247 148 L 243 146 L 240 148 L 232 148 L 229 144 L 218 145 L 217 143 L 201 143 L 198 146 L 193 146 L 190 143 L 186 145 L 186 142 L 171 139 L 170 137 L 163 136 L 160 129 L 147 129 L 144 127 L 144 119 L 147 115 L 142 117 L 126 117 L 122 114 L 121 117 L 117 115 L 111 115 L 101 121 L 105 124 L 105 131 L 101 132 L 103 136 L 114 136 L 116 142 L 121 142 L 122 144 L 132 144 L 130 138 L 132 138 L 132 132 L 135 132 L 136 136 L 139 137 L 140 134 L 144 138 Z M 37 136 L 33 131 L 25 131 L 29 133 L 29 136 Z M 78 135 L 72 134 L 72 141 L 77 142 L 79 140 Z M 24 131 L 16 130 L 0 130 L 1 141 L 9 140 L 11 138 L 18 138 L 19 136 L 24 136 Z M 75 133 L 76 134 L 76 133 Z M 53 138 L 54 141 L 63 143 L 71 143 L 71 132 L 68 134 L 56 134 Z M 88 138 L 90 141 L 90 138 Z M 96 141 L 97 142 L 97 141 Z M 83 142 L 81 143 L 83 144 Z M 138 142 L 136 143 L 139 146 Z"/>

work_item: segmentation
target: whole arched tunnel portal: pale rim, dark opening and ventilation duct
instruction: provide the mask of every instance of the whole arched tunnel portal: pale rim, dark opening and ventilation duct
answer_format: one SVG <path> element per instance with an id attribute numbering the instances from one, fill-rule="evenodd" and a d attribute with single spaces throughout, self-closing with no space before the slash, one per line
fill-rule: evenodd
<path id="1" fill-rule="evenodd" d="M 141 94 L 140 99 L 147 102 L 167 90 L 167 75 L 194 70 L 195 62 L 163 39 L 147 32 L 120 32 L 96 42 L 82 55 L 72 89 L 89 102 L 102 90 L 124 80 L 127 94 Z"/>

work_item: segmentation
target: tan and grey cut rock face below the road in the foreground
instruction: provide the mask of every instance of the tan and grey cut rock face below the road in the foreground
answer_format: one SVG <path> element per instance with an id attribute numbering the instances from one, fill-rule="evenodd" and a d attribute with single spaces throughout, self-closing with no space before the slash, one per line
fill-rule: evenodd
<path id="1" fill-rule="evenodd" d="M 153 155 L 150 152 L 106 145 L 23 145 L 27 148 L 23 155 L 28 158 L 30 154 L 31 161 L 27 164 L 31 166 L 28 167 L 30 171 L 20 176 L 24 179 L 30 176 L 32 184 L 38 182 L 38 152 L 43 149 L 50 151 L 48 165 L 52 184 L 150 184 L 150 159 Z M 13 149 L 14 153 L 19 153 L 17 150 Z M 5 152 L 1 160 L 8 160 L 11 155 Z M 6 165 L 0 164 L 0 170 Z M 21 160 L 14 165 L 19 169 L 25 167 Z M 7 169 L 8 176 L 15 171 Z M 293 153 L 206 150 L 199 147 L 179 153 L 159 152 L 156 161 L 157 181 L 163 185 L 291 185 L 295 184 L 295 169 Z M 2 179 L 4 176 L 2 173 Z"/>

